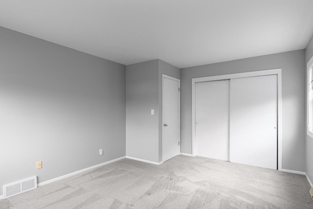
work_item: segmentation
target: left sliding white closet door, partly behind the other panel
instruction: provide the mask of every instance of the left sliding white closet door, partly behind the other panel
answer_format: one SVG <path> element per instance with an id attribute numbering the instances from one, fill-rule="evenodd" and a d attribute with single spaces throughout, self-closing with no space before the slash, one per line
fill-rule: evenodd
<path id="1" fill-rule="evenodd" d="M 228 161 L 229 80 L 196 83 L 196 155 Z"/>

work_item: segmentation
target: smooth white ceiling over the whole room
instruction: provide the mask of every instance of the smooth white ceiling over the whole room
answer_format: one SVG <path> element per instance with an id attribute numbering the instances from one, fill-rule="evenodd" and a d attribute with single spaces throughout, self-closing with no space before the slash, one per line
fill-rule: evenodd
<path id="1" fill-rule="evenodd" d="M 0 26 L 124 65 L 179 68 L 303 49 L 313 0 L 0 0 Z"/>

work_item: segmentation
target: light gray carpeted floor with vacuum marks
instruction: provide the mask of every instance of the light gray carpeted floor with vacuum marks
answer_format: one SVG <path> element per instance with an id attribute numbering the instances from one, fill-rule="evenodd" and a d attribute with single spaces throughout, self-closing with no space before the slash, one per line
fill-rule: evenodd
<path id="1" fill-rule="evenodd" d="M 16 209 L 313 209 L 303 175 L 179 155 L 121 161 L 0 200 Z"/>

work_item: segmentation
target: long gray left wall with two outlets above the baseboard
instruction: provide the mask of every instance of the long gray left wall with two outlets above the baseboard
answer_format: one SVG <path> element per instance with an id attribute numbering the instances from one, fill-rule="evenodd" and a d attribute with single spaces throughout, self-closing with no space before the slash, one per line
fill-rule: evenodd
<path id="1" fill-rule="evenodd" d="M 125 68 L 0 27 L 0 186 L 125 156 Z"/>

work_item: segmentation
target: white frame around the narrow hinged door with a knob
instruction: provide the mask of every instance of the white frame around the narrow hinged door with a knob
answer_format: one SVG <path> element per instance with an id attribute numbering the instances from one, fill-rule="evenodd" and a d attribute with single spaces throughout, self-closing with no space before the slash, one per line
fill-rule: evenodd
<path id="1" fill-rule="evenodd" d="M 174 80 L 174 81 L 178 81 L 178 83 L 179 83 L 179 135 L 178 135 L 178 137 L 179 137 L 179 154 L 180 154 L 180 80 L 179 79 L 177 79 L 177 78 L 174 78 L 174 77 L 171 77 L 171 76 L 169 76 L 169 75 L 165 75 L 165 74 L 162 74 L 162 162 L 164 162 L 164 158 L 163 158 L 163 151 L 164 151 L 164 149 L 163 149 L 163 132 L 164 132 L 164 78 L 167 78 L 167 79 L 171 79 L 171 80 Z"/>

